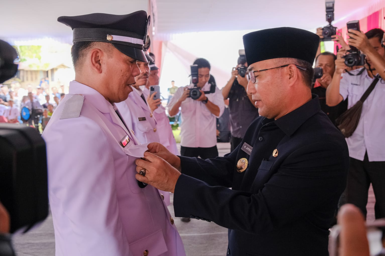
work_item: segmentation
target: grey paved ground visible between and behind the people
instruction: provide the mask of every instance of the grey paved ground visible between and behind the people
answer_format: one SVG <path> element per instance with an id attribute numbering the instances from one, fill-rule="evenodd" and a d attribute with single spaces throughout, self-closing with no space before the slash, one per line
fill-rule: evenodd
<path id="1" fill-rule="evenodd" d="M 218 144 L 219 155 L 230 151 L 229 143 Z M 373 190 L 370 190 L 368 200 L 368 221 L 374 220 L 374 203 L 375 198 Z M 169 205 L 169 211 L 174 216 L 174 208 Z M 185 223 L 180 218 L 174 218 L 175 225 L 182 237 L 184 248 L 187 256 L 223 256 L 226 255 L 227 249 L 227 229 L 211 222 L 192 219 Z M 52 216 L 42 223 L 35 230 L 24 234 L 15 235 L 13 243 L 18 256 L 54 256 L 55 255 L 55 238 L 54 227 L 52 224 Z"/>

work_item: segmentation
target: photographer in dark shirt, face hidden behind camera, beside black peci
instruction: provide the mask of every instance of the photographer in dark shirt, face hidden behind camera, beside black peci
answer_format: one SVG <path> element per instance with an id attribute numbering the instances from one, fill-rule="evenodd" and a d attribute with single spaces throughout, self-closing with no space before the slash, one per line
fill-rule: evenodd
<path id="1" fill-rule="evenodd" d="M 223 98 L 229 99 L 231 151 L 241 143 L 246 129 L 259 116 L 258 108 L 254 104 L 255 101 L 251 98 L 251 94 L 246 92 L 248 82 L 245 73 L 247 67 L 244 50 L 240 50 L 238 65 L 233 68 L 230 80 L 222 88 Z"/>

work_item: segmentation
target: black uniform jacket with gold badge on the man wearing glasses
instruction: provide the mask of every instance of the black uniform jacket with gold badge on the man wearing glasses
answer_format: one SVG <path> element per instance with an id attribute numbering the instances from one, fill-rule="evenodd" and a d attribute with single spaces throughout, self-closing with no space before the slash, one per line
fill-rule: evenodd
<path id="1" fill-rule="evenodd" d="M 228 228 L 228 255 L 328 255 L 349 155 L 317 96 L 276 121 L 258 117 L 224 157 L 180 158 L 175 216 Z M 241 158 L 244 172 L 236 167 Z"/>

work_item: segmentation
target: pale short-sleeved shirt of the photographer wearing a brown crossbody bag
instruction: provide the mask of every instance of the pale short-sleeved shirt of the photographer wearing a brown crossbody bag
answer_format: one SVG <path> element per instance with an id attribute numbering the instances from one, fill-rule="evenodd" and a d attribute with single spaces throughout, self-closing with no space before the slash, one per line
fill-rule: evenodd
<path id="1" fill-rule="evenodd" d="M 350 71 L 357 74 L 361 69 Z M 350 109 L 362 97 L 369 88 L 373 78 L 370 78 L 365 70 L 359 76 L 342 74 L 340 81 L 340 94 L 345 100 L 348 98 Z M 349 155 L 363 161 L 365 151 L 368 152 L 370 162 L 385 161 L 385 81 L 378 80 L 375 88 L 363 102 L 362 113 L 357 129 L 352 136 L 346 138 L 349 147 Z"/>

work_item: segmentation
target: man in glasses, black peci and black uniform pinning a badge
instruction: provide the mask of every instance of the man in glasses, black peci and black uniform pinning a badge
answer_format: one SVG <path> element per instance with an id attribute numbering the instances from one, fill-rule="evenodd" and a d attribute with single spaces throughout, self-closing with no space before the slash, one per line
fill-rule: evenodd
<path id="1" fill-rule="evenodd" d="M 144 154 L 149 162 L 136 160 L 145 175 L 138 180 L 174 193 L 175 216 L 229 228 L 228 255 L 329 255 L 328 228 L 349 157 L 343 135 L 311 95 L 318 40 L 297 28 L 243 36 L 247 92 L 261 116 L 233 152 L 203 160 L 154 143 Z"/>

